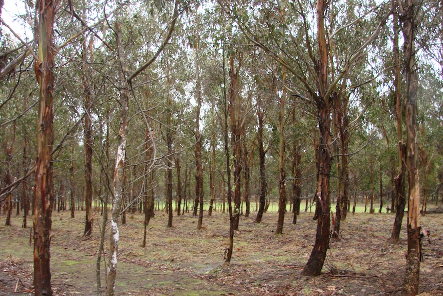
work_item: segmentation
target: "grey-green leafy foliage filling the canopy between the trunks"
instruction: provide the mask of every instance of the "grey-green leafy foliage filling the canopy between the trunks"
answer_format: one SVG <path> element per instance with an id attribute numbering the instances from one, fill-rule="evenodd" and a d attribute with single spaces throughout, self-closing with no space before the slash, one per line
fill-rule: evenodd
<path id="1" fill-rule="evenodd" d="M 101 1 L 73 3 L 73 9 L 79 18 L 90 28 L 85 28 L 68 10 L 61 9 L 58 12 L 54 41 L 57 51 L 54 127 L 56 146 L 59 143 L 62 145 L 53 155 L 56 167 L 54 182 L 55 188 L 60 188 L 61 183 L 67 185 L 69 168 L 74 162 L 79 195 L 84 186 L 82 116 L 90 116 L 93 119 L 95 196 L 99 195 L 100 190 L 103 196 L 103 191 L 109 191 L 112 187 L 106 184 L 106 178 L 109 180 L 112 176 L 120 124 L 120 114 L 117 110 L 121 66 L 116 48 L 115 22 L 118 20 L 122 24 L 124 58 L 128 64 L 124 71 L 126 75 L 130 75 L 153 57 L 171 23 L 174 8 L 174 3 L 164 0 L 125 3 L 117 11 L 113 11 L 117 8 L 116 5 L 107 3 L 103 10 Z M 440 182 L 438 173 L 441 174 L 440 163 L 443 158 L 443 79 L 441 68 L 438 67 L 442 63 L 443 52 L 440 48 L 441 42 L 438 42 L 442 36 L 439 20 L 443 18 L 430 18 L 432 13 L 440 15 L 441 11 L 430 6 L 431 4 L 424 5 L 424 25 L 418 30 L 420 42 L 417 49 L 418 53 L 422 53 L 422 59 L 418 61 L 418 141 L 428 156 L 428 163 L 421 164 L 421 167 L 428 173 L 427 185 L 432 195 Z M 326 30 L 331 77 L 337 77 L 341 73 L 350 56 L 356 53 L 375 30 L 381 16 L 389 9 L 388 6 L 389 3 L 377 6 L 374 1 L 338 1 L 330 4 Z M 180 3 L 179 9 L 181 14 L 169 44 L 151 67 L 132 81 L 128 109 L 130 132 L 127 139 L 126 189 L 134 197 L 140 196 L 144 190 L 144 165 L 152 161 L 147 160 L 145 156 L 145 132 L 148 123 L 154 138 L 151 147 L 156 148 L 156 166 L 153 167 L 156 172 L 155 193 L 158 197 L 163 196 L 163 159 L 168 154 L 164 140 L 165 134 L 170 130 L 174 134 L 174 155 L 180 158 L 183 166 L 182 182 L 187 178 L 187 190 L 193 195 L 193 189 L 190 188 L 194 188 L 195 182 L 192 176 L 195 171 L 195 65 L 198 63 L 202 91 L 200 133 L 204 144 L 204 171 L 209 171 L 209 164 L 212 164 L 213 145 L 216 150 L 215 178 L 216 183 L 220 184 L 216 188 L 216 196 L 219 200 L 222 199 L 223 186 L 226 186 L 224 134 L 229 134 L 230 128 L 228 126 L 228 130 L 225 130 L 224 116 L 227 115 L 229 123 L 229 57 L 233 55 L 233 70 L 239 71 L 235 95 L 242 105 L 242 140 L 250 153 L 251 194 L 256 195 L 260 186 L 256 145 L 259 101 L 265 113 L 263 141 L 265 148 L 268 148 L 265 167 L 269 196 L 275 196 L 278 188 L 278 106 L 282 91 L 286 88 L 286 171 L 291 171 L 293 147 L 299 147 L 302 151 L 302 194 L 311 196 L 316 190 L 315 143 L 318 141 L 318 118 L 315 113 L 317 106 L 313 101 L 313 97 L 318 93 L 312 92 L 317 89 L 318 83 L 318 46 L 315 41 L 317 24 L 313 3 L 236 1 L 231 7 L 221 7 L 215 2 L 183 2 Z M 106 16 L 103 11 L 106 11 Z M 389 19 L 379 36 L 350 65 L 346 78 L 339 81 L 335 90 L 342 95 L 341 101 L 344 98 L 348 100 L 347 106 L 342 108 L 345 108 L 349 120 L 349 172 L 353 180 L 358 180 L 357 187 L 352 186 L 351 194 L 370 188 L 370 161 L 374 162 L 374 168 L 377 169 L 381 164 L 382 183 L 386 189 L 392 188 L 391 176 L 395 176 L 397 140 L 391 27 L 392 20 Z M 249 32 L 249 37 L 260 41 L 267 50 L 252 45 L 245 32 Z M 83 45 L 86 46 L 86 59 L 82 56 Z M 20 41 L 2 27 L 2 68 L 23 50 L 12 50 L 19 46 Z M 287 65 L 283 67 L 275 62 L 275 59 L 271 58 L 272 54 L 284 59 Z M 11 165 L 16 177 L 23 173 L 20 172 L 20 167 L 24 140 L 29 147 L 29 167 L 31 160 L 35 159 L 32 147 L 38 129 L 35 126 L 34 105 L 38 97 L 38 84 L 32 65 L 32 57 L 28 56 L 14 72 L 0 81 L 0 137 L 5 143 L 12 141 L 15 123 L 16 140 Z M 284 84 L 283 72 L 286 75 Z M 93 98 L 93 106 L 87 115 L 83 106 L 85 78 L 90 83 Z M 404 85 L 402 91 L 404 94 Z M 169 105 L 168 95 L 171 99 Z M 171 114 L 169 126 L 166 123 L 168 113 Z M 336 145 L 340 138 L 333 130 L 331 134 L 332 142 Z M 106 147 L 109 149 L 108 155 Z M 331 151 L 334 158 L 334 178 L 337 178 L 336 164 L 341 157 L 335 155 L 341 152 L 340 146 L 337 147 L 336 152 Z M 6 169 L 5 158 L 4 151 L 0 151 L 2 178 Z M 101 173 L 103 170 L 106 171 L 106 176 Z M 291 181 L 292 174 L 288 173 L 287 176 L 288 182 Z M 176 182 L 177 178 L 174 176 L 174 188 Z M 206 175 L 204 182 L 205 193 L 209 193 L 209 178 Z M 333 182 L 335 184 L 335 181 Z M 205 198 L 208 196 L 209 194 L 205 194 Z"/>

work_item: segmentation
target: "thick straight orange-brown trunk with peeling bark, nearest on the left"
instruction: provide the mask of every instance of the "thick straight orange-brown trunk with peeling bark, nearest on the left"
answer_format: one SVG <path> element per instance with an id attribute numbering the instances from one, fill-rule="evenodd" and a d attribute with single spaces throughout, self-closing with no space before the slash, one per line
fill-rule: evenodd
<path id="1" fill-rule="evenodd" d="M 35 189 L 33 203 L 34 227 L 34 291 L 35 296 L 52 296 L 50 272 L 50 237 L 52 226 L 53 179 L 51 151 L 54 143 L 53 90 L 54 45 L 52 43 L 56 2 L 39 0 L 39 61 L 35 61 L 40 84 L 37 121 Z"/>

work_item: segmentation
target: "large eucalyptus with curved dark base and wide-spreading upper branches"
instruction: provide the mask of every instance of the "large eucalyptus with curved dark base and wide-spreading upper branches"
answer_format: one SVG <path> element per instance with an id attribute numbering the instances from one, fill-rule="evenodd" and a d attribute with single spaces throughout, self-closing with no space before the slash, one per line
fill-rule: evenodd
<path id="1" fill-rule="evenodd" d="M 325 20 L 325 12 L 330 8 L 330 4 L 319 0 L 317 1 L 316 13 L 310 7 L 304 7 L 302 3 L 284 3 L 275 4 L 272 2 L 263 3 L 259 9 L 260 13 L 251 12 L 248 5 L 236 4 L 232 6 L 229 3 L 220 1 L 227 13 L 236 20 L 238 27 L 243 31 L 245 36 L 255 44 L 268 53 L 273 59 L 284 66 L 289 79 L 297 80 L 299 83 L 294 85 L 294 92 L 292 95 L 306 97 L 308 101 L 317 107 L 318 125 L 319 125 L 319 181 L 317 189 L 319 219 L 317 226 L 316 243 L 312 249 L 311 256 L 308 263 L 303 270 L 305 275 L 318 275 L 323 267 L 323 262 L 326 256 L 326 250 L 329 246 L 329 176 L 330 176 L 330 114 L 331 106 L 334 102 L 341 99 L 341 95 L 345 90 L 346 77 L 352 71 L 354 65 L 360 61 L 362 53 L 368 45 L 378 36 L 382 29 L 387 15 L 383 12 L 383 7 L 378 17 L 375 19 L 376 26 L 370 28 L 368 31 L 371 35 L 361 34 L 361 39 L 355 42 L 352 46 L 342 53 L 338 65 L 335 66 L 336 71 L 331 71 L 330 68 L 330 47 L 327 46 L 326 35 L 333 34 L 329 32 L 327 20 Z M 288 10 L 284 14 L 283 22 L 279 11 L 282 7 Z M 356 19 L 366 15 L 373 15 L 376 17 L 377 9 L 370 7 L 362 7 L 362 15 Z M 311 28 L 309 20 L 316 19 L 317 26 L 315 29 Z M 356 19 L 348 19 L 346 24 L 347 30 L 359 31 L 359 26 L 356 26 Z M 259 25 L 265 23 L 266 30 Z M 274 36 L 282 36 L 281 28 L 284 27 L 287 32 L 287 38 L 284 39 L 283 44 L 277 42 Z M 341 30 L 344 28 L 339 28 Z M 315 33 L 314 33 L 315 32 Z M 350 36 L 351 33 L 348 33 Z M 278 40 L 278 39 L 277 39 Z M 300 40 L 300 41 L 299 41 Z M 303 40 L 303 41 L 302 41 Z M 317 41 L 317 47 L 312 45 L 311 40 Z M 355 40 L 355 39 L 354 39 Z M 303 44 L 304 46 L 300 46 Z M 284 53 L 281 55 L 280 53 Z M 311 83 L 315 81 L 315 83 Z M 288 85 L 289 86 L 289 85 Z M 304 95 L 306 94 L 306 96 Z"/>

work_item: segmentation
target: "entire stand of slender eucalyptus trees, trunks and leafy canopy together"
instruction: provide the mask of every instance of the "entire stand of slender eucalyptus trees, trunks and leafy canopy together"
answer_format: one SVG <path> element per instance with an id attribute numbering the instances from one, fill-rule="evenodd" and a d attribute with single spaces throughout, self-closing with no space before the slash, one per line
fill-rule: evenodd
<path id="1" fill-rule="evenodd" d="M 404 293 L 418 292 L 420 203 L 424 214 L 443 195 L 441 2 L 22 5 L 0 31 L 0 201 L 9 224 L 20 200 L 23 227 L 32 206 L 36 295 L 52 294 L 54 201 L 72 217 L 85 207 L 85 236 L 93 200 L 112 204 L 101 227 L 113 295 L 121 215 L 142 204 L 146 236 L 155 196 L 168 227 L 186 206 L 200 229 L 205 204 L 208 215 L 223 204 L 227 263 L 251 202 L 260 222 L 278 197 L 281 234 L 287 204 L 297 223 L 312 198 L 317 236 L 302 273 L 319 275 L 352 201 L 366 195 L 374 210 L 388 194 L 393 242 L 409 200 Z"/>

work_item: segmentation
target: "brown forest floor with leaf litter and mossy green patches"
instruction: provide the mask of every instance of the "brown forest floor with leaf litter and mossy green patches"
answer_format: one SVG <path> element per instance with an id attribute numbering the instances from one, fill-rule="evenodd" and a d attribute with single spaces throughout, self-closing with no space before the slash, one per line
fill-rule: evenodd
<path id="1" fill-rule="evenodd" d="M 401 241 L 389 243 L 394 214 L 348 214 L 342 222 L 342 238 L 331 240 L 323 274 L 301 276 L 315 240 L 317 221 L 313 213 L 301 213 L 296 225 L 288 212 L 284 233 L 273 234 L 276 213 L 265 213 L 254 223 L 256 213 L 241 217 L 235 233 L 230 266 L 223 265 L 228 246 L 227 214 L 204 216 L 204 229 L 196 230 L 192 214 L 175 216 L 167 228 L 167 215 L 156 212 L 151 219 L 146 248 L 143 217 L 127 214 L 120 227 L 117 295 L 400 295 L 407 250 L 404 217 Z M 51 273 L 55 296 L 96 295 L 96 261 L 101 217 L 96 213 L 94 231 L 83 238 L 84 212 L 53 213 Z M 421 295 L 443 295 L 443 214 L 420 217 L 430 232 L 423 239 L 420 265 Z M 11 227 L 0 223 L 0 295 L 32 294 L 33 247 L 30 229 L 21 228 L 14 217 Z M 28 224 L 32 221 L 28 220 Z M 106 236 L 106 245 L 108 237 Z M 108 254 L 108 247 L 105 249 Z M 105 286 L 102 257 L 101 285 Z M 103 288 L 102 288 L 103 289 Z"/>

